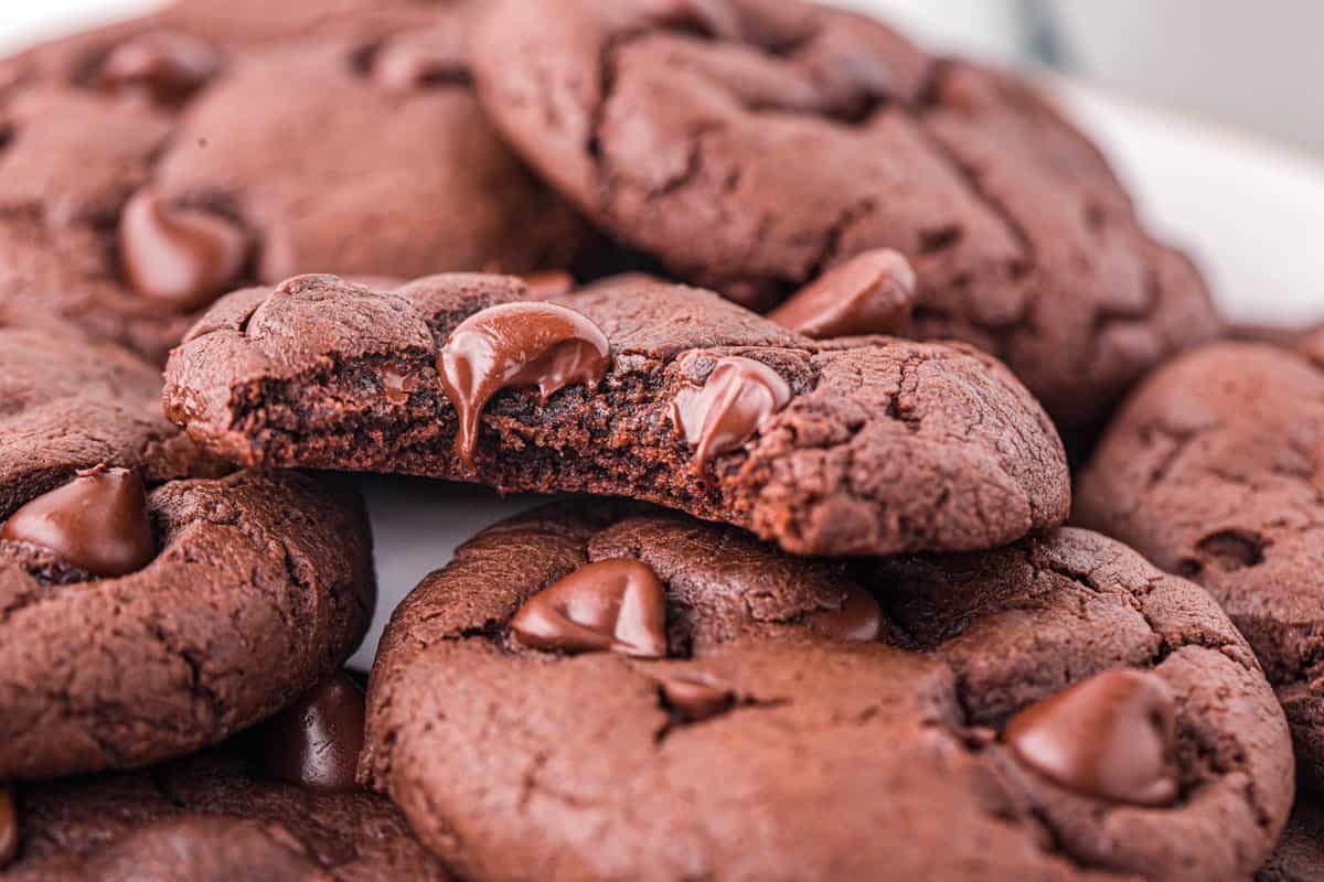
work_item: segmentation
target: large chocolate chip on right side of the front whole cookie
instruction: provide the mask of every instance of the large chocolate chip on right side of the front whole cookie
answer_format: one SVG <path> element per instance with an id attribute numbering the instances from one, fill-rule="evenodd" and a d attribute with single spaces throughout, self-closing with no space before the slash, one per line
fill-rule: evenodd
<path id="1" fill-rule="evenodd" d="M 1022 763 L 1084 796 L 1177 799 L 1176 705 L 1158 676 L 1110 670 L 1026 707 L 1002 739 Z"/>

